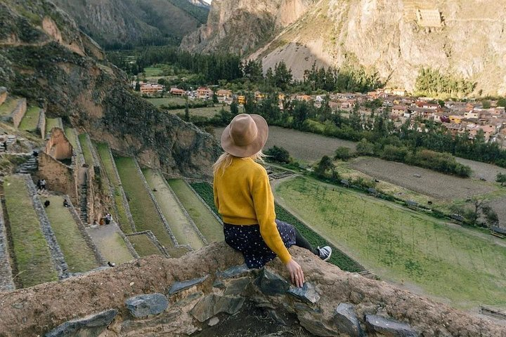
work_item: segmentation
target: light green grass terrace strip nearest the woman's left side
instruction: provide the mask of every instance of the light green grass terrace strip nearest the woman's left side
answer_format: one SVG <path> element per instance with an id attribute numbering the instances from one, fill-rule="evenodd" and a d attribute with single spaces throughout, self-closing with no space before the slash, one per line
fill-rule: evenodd
<path id="1" fill-rule="evenodd" d="M 207 239 L 207 242 L 223 241 L 225 239 L 223 237 L 223 226 L 216 220 L 214 214 L 207 209 L 205 204 L 202 204 L 202 201 L 198 199 L 184 180 L 170 179 L 169 185 L 176 193 L 181 204 L 183 204 L 183 207 L 188 211 L 188 214 L 190 214 L 197 228 Z"/>

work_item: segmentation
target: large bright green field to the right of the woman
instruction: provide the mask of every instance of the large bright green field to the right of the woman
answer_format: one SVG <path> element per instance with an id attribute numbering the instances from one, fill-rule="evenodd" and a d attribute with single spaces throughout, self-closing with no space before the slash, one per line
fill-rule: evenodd
<path id="1" fill-rule="evenodd" d="M 377 275 L 458 308 L 506 305 L 506 247 L 372 197 L 306 178 L 275 188 L 299 218 Z"/>

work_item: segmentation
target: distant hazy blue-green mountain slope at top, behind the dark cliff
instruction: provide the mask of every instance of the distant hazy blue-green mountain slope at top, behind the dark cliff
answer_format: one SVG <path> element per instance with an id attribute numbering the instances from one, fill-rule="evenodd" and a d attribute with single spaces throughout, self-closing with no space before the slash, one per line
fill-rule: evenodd
<path id="1" fill-rule="evenodd" d="M 104 48 L 179 44 L 206 22 L 201 0 L 53 0 Z"/>

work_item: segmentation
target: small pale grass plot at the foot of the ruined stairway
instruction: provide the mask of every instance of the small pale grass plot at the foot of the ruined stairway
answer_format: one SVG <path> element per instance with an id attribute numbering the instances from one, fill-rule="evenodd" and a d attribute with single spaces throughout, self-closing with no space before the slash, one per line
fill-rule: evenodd
<path id="1" fill-rule="evenodd" d="M 130 251 L 126 248 L 124 239 L 119 234 L 117 225 L 109 224 L 95 228 L 86 228 L 93 242 L 106 261 L 117 265 L 134 260 Z"/>

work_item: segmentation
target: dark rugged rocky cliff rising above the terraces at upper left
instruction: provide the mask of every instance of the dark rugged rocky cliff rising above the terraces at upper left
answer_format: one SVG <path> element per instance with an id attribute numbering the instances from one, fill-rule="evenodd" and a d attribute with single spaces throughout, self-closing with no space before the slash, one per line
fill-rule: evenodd
<path id="1" fill-rule="evenodd" d="M 11 94 L 167 173 L 210 174 L 214 138 L 135 95 L 52 2 L 0 0 L 0 22 L 0 83 Z"/>

